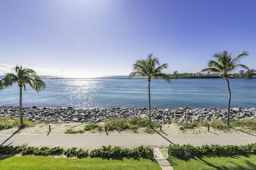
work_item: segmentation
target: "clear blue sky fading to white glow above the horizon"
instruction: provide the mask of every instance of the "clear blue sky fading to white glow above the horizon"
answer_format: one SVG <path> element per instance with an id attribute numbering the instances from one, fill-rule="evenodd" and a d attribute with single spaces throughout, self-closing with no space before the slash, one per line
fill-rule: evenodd
<path id="1" fill-rule="evenodd" d="M 255 0 L 0 0 L 0 75 L 128 75 L 153 53 L 165 73 L 200 72 L 227 50 L 256 69 Z"/>

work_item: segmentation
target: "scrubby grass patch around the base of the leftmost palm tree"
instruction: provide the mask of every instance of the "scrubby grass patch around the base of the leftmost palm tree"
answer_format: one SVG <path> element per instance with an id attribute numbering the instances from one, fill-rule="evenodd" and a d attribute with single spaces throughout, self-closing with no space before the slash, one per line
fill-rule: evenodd
<path id="1" fill-rule="evenodd" d="M 29 121 L 26 118 L 23 118 L 23 124 L 25 127 L 33 127 L 35 123 Z M 9 129 L 12 127 L 19 127 L 20 126 L 20 119 L 11 120 L 9 117 L 0 117 L 0 125 L 1 129 Z"/>

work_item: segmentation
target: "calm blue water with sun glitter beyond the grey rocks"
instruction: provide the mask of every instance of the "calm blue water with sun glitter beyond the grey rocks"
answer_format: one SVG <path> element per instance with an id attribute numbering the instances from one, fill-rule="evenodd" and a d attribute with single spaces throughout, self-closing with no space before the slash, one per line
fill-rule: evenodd
<path id="1" fill-rule="evenodd" d="M 0 76 L 2 78 L 2 76 Z M 148 107 L 148 80 L 118 78 L 47 78 L 46 89 L 39 93 L 27 85 L 22 95 L 24 107 Z M 229 79 L 231 107 L 256 107 L 256 79 Z M 173 79 L 150 82 L 151 106 L 159 109 L 178 107 L 227 108 L 225 79 Z M 19 106 L 19 87 L 0 91 L 0 105 Z"/>

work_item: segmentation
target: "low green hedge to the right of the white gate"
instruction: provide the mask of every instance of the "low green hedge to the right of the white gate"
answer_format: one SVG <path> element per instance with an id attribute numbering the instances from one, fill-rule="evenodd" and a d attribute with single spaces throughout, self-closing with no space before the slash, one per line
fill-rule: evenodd
<path id="1" fill-rule="evenodd" d="M 222 155 L 245 155 L 256 154 L 256 143 L 235 146 L 235 145 L 202 145 L 201 147 L 193 147 L 190 144 L 187 145 L 169 145 L 168 153 L 172 156 L 222 156 Z"/>

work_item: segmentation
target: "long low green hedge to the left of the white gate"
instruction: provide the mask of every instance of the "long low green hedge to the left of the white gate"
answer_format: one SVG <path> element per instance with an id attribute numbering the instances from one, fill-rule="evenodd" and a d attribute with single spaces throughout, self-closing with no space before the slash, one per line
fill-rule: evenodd
<path id="1" fill-rule="evenodd" d="M 108 147 L 102 146 L 100 149 L 94 149 L 90 153 L 88 150 L 77 149 L 76 147 L 69 148 L 67 150 L 54 147 L 20 147 L 20 146 L 0 146 L 0 154 L 22 154 L 22 155 L 37 155 L 37 156 L 49 156 L 64 154 L 68 158 L 86 158 L 86 157 L 98 157 L 98 158 L 116 158 L 116 157 L 126 157 L 126 158 L 153 158 L 153 149 L 150 147 L 137 147 L 134 149 L 114 147 L 110 145 Z"/>

